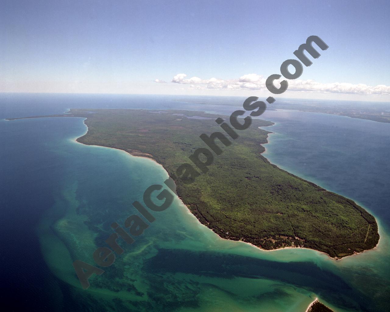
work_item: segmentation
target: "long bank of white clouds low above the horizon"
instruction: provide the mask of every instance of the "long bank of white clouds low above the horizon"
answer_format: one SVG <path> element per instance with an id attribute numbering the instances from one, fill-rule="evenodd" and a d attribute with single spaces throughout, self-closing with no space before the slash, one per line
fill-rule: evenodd
<path id="1" fill-rule="evenodd" d="M 266 78 L 258 74 L 245 74 L 238 79 L 223 80 L 218 78 L 201 79 L 186 78 L 186 74 L 177 74 L 173 83 L 190 85 L 190 89 L 219 89 L 219 90 L 266 90 Z M 158 79 L 156 79 L 158 80 Z M 287 90 L 295 92 L 346 93 L 346 94 L 381 94 L 390 95 L 390 86 L 369 86 L 363 83 L 321 83 L 314 80 L 287 80 Z M 157 82 L 157 81 L 156 81 Z M 274 82 L 278 87 L 279 83 Z"/>

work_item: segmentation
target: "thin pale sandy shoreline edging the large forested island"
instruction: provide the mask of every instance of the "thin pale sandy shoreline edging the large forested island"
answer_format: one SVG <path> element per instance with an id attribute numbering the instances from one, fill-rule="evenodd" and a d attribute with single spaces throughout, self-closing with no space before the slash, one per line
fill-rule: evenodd
<path id="1" fill-rule="evenodd" d="M 131 155 L 131 156 L 133 156 L 133 157 L 147 158 L 147 159 L 153 161 L 154 163 L 158 164 L 159 166 L 161 166 L 161 167 L 164 169 L 164 171 L 167 173 L 167 176 L 169 177 L 168 171 L 164 168 L 163 165 L 161 165 L 160 163 L 158 163 L 154 158 L 150 158 L 150 157 L 146 157 L 146 156 L 142 156 L 142 155 L 134 155 L 134 154 L 132 154 L 130 151 L 125 151 L 124 149 L 119 149 L 119 148 L 117 148 L 117 147 L 108 147 L 108 146 L 103 146 L 103 145 L 91 145 L 91 144 L 84 144 L 84 143 L 82 143 L 82 142 L 79 142 L 78 139 L 80 139 L 80 138 L 84 137 L 85 135 L 87 135 L 89 128 L 88 128 L 87 124 L 85 123 L 85 121 L 88 119 L 87 117 L 77 117 L 77 118 L 83 118 L 83 124 L 87 127 L 87 131 L 86 131 L 83 135 L 81 135 L 80 137 L 73 138 L 73 141 L 74 141 L 74 142 L 79 143 L 79 144 L 83 144 L 83 145 L 86 145 L 86 146 L 97 146 L 97 147 L 105 147 L 105 148 L 110 148 L 110 149 L 116 149 L 116 150 L 125 152 L 125 153 L 127 153 L 127 154 L 129 154 L 129 155 Z M 273 124 L 270 125 L 270 126 L 274 126 L 274 125 L 275 125 L 275 122 L 273 122 Z M 260 127 L 258 127 L 258 128 L 261 129 Z M 260 145 L 268 144 L 268 143 L 269 143 L 269 140 L 268 140 L 268 139 L 269 139 L 269 134 L 272 134 L 272 133 L 275 133 L 275 132 L 269 131 L 269 133 L 268 133 L 268 135 L 267 135 L 267 138 L 266 138 L 266 141 L 267 141 L 267 142 L 262 143 L 262 144 L 260 144 Z M 263 148 L 264 148 L 264 151 L 262 151 L 260 154 L 262 154 L 262 153 L 264 153 L 264 152 L 266 151 L 266 147 L 263 146 Z M 152 155 L 152 156 L 153 156 L 153 155 Z M 264 157 L 264 156 L 263 156 L 263 157 Z M 265 158 L 265 157 L 264 157 L 264 158 Z M 268 160 L 268 158 L 266 158 L 266 160 Z M 268 161 L 269 161 L 269 160 L 268 160 Z M 270 162 L 270 161 L 269 161 L 269 162 Z M 270 162 L 270 163 L 271 163 L 271 162 Z M 309 181 L 309 182 L 310 182 L 310 181 Z M 175 185 L 176 185 L 176 184 L 175 184 Z M 202 222 L 200 222 L 199 219 L 191 212 L 191 210 L 187 207 L 187 205 L 184 204 L 183 200 L 181 200 L 181 197 L 180 197 L 178 194 L 177 194 L 177 197 L 179 198 L 181 204 L 183 204 L 183 206 L 186 207 L 187 212 L 190 213 L 192 216 L 194 216 L 195 219 L 197 220 L 197 222 L 199 222 L 201 225 L 203 225 L 204 227 L 206 227 L 207 229 L 209 229 L 209 230 L 211 230 L 213 233 L 215 233 L 215 234 L 218 236 L 218 238 L 220 238 L 220 239 L 226 239 L 226 240 L 229 240 L 229 241 L 236 241 L 236 240 L 233 240 L 233 239 L 222 238 L 218 233 L 216 233 L 215 231 L 213 231 L 212 229 L 210 229 L 209 227 L 207 227 L 206 225 L 204 225 L 204 224 L 203 224 Z M 374 217 L 374 218 L 375 218 L 375 217 Z M 375 219 L 375 220 L 376 220 L 376 219 Z M 377 222 L 377 224 L 378 224 L 378 222 Z M 379 229 L 379 226 L 378 226 L 378 229 Z M 379 237 L 379 239 L 380 239 L 380 237 Z M 362 252 L 359 252 L 359 253 L 356 253 L 356 254 L 347 255 L 347 256 L 345 256 L 345 257 L 337 258 L 337 257 L 331 257 L 329 254 L 326 254 L 325 252 L 321 252 L 320 250 L 316 250 L 316 249 L 312 249 L 312 248 L 288 246 L 288 247 L 282 247 L 282 248 L 267 250 L 267 249 L 263 249 L 263 248 L 261 248 L 261 247 L 259 247 L 259 246 L 256 246 L 256 245 L 254 245 L 254 244 L 252 244 L 252 243 L 248 243 L 248 242 L 246 242 L 246 241 L 238 241 L 238 242 L 241 242 L 241 243 L 245 243 L 245 244 L 251 245 L 251 246 L 255 247 L 257 250 L 262 250 L 262 251 L 265 251 L 265 252 L 275 252 L 275 251 L 278 251 L 278 250 L 285 250 L 285 249 L 308 249 L 308 250 L 314 250 L 315 252 L 319 252 L 320 254 L 327 255 L 329 259 L 333 259 L 333 260 L 336 260 L 336 261 L 337 261 L 337 260 L 341 260 L 341 259 L 346 258 L 346 257 L 350 257 L 350 256 L 362 254 L 362 253 L 365 252 L 365 251 L 374 250 L 374 249 L 377 248 L 377 246 L 378 246 L 378 244 L 379 244 L 379 240 L 378 240 L 377 245 L 374 246 L 374 247 L 371 248 L 371 249 L 363 250 Z"/>

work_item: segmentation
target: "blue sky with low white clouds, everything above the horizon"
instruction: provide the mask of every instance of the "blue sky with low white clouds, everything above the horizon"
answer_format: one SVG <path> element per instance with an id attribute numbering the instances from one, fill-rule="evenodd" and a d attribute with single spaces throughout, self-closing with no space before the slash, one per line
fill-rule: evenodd
<path id="1" fill-rule="evenodd" d="M 389 1 L 0 0 L 0 92 L 269 96 L 317 35 L 329 48 L 283 97 L 390 101 L 389 15 Z"/>

